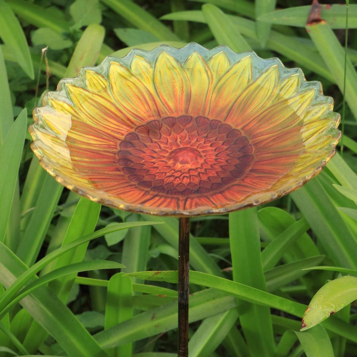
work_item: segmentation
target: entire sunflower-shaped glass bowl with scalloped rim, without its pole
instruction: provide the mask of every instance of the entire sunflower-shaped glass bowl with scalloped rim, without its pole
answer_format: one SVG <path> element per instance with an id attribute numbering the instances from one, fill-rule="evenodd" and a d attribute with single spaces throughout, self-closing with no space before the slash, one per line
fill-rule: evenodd
<path id="1" fill-rule="evenodd" d="M 340 116 L 300 69 L 225 46 L 159 46 L 61 80 L 34 110 L 32 150 L 105 205 L 194 216 L 296 190 L 335 154 Z"/>

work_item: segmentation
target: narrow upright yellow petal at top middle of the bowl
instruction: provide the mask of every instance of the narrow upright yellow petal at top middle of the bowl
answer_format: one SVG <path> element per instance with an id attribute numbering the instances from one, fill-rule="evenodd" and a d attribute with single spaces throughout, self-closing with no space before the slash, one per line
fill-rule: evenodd
<path id="1" fill-rule="evenodd" d="M 207 98 L 211 93 L 213 76 L 203 58 L 194 51 L 183 64 L 191 83 L 190 115 L 207 115 L 209 105 Z"/>

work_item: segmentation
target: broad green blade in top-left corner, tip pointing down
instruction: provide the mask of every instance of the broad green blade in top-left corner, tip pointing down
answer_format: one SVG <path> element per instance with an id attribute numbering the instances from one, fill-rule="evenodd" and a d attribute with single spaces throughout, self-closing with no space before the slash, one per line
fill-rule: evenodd
<path id="1" fill-rule="evenodd" d="M 24 31 L 11 7 L 3 0 L 0 1 L 0 37 L 4 44 L 14 52 L 16 62 L 20 67 L 31 79 L 34 79 L 34 66 L 32 66 L 30 50 Z"/>

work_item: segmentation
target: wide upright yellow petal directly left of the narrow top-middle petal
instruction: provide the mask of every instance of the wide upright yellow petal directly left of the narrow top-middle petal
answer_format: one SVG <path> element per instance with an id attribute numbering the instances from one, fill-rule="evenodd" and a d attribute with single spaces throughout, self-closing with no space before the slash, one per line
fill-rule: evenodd
<path id="1" fill-rule="evenodd" d="M 155 63 L 154 85 L 157 94 L 171 115 L 189 114 L 191 85 L 187 73 L 165 51 L 159 54 Z"/>

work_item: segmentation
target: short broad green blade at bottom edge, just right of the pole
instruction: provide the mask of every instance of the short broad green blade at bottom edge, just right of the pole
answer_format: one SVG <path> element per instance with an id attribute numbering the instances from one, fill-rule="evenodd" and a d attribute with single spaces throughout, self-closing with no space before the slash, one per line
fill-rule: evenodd
<path id="1" fill-rule="evenodd" d="M 210 356 L 222 343 L 237 318 L 237 309 L 231 309 L 203 320 L 188 342 L 190 357 Z"/>

